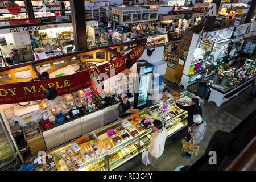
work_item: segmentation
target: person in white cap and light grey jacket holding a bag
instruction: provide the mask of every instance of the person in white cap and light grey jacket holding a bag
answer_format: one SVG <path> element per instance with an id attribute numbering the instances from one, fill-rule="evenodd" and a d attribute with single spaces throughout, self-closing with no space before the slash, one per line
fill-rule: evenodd
<path id="1" fill-rule="evenodd" d="M 201 140 L 203 140 L 205 129 L 206 129 L 206 122 L 203 121 L 201 115 L 195 114 L 193 115 L 193 122 L 194 124 L 191 127 L 188 127 L 188 133 L 191 136 L 191 138 L 195 138 L 195 144 L 198 145 Z M 185 152 L 185 154 L 182 154 L 183 158 L 190 159 L 191 154 L 188 152 Z"/>

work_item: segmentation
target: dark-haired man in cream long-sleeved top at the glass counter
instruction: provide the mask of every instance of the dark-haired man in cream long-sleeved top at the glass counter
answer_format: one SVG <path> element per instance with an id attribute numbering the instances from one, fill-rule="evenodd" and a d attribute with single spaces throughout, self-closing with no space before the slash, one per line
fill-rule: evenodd
<path id="1" fill-rule="evenodd" d="M 150 171 L 155 171 L 158 169 L 158 159 L 164 151 L 167 131 L 162 126 L 162 122 L 160 120 L 154 120 L 151 128 L 155 134 L 151 138 L 150 147 L 146 148 L 146 150 L 148 150 L 148 158 L 150 160 Z"/>

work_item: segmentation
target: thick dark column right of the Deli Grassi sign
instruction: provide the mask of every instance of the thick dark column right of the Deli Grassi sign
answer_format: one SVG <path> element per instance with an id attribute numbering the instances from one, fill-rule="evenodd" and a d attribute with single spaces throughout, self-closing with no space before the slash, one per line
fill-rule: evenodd
<path id="1" fill-rule="evenodd" d="M 73 35 L 76 51 L 87 49 L 84 0 L 70 0 Z"/>

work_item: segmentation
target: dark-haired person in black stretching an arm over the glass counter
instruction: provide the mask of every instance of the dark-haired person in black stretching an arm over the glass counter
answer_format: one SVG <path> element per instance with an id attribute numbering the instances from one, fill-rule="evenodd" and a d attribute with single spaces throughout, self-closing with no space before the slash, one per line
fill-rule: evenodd
<path id="1" fill-rule="evenodd" d="M 202 107 L 199 106 L 198 98 L 192 98 L 191 106 L 182 106 L 176 101 L 176 105 L 180 107 L 180 109 L 188 111 L 188 127 L 193 125 L 193 115 L 199 114 L 202 116 Z"/>

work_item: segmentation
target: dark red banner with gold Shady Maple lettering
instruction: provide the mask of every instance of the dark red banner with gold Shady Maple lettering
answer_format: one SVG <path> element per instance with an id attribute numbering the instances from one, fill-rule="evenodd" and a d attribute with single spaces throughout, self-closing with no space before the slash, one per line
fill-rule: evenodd
<path id="1" fill-rule="evenodd" d="M 142 42 L 146 44 L 146 39 Z M 144 46 L 138 46 L 132 52 L 125 56 L 118 57 L 109 63 L 105 63 L 98 67 L 100 73 L 106 73 L 110 78 L 110 72 L 114 69 L 115 75 L 126 69 L 126 61 L 133 60 L 136 57 L 137 61 L 144 52 Z M 82 71 L 79 74 L 61 76 L 47 80 L 50 88 L 57 90 L 58 96 L 64 94 L 76 92 L 84 88 L 91 86 L 89 71 Z M 44 99 L 44 90 L 47 89 L 46 81 L 30 81 L 20 82 L 15 84 L 3 84 L 0 85 L 0 104 L 11 104 L 26 101 L 35 101 Z"/>

